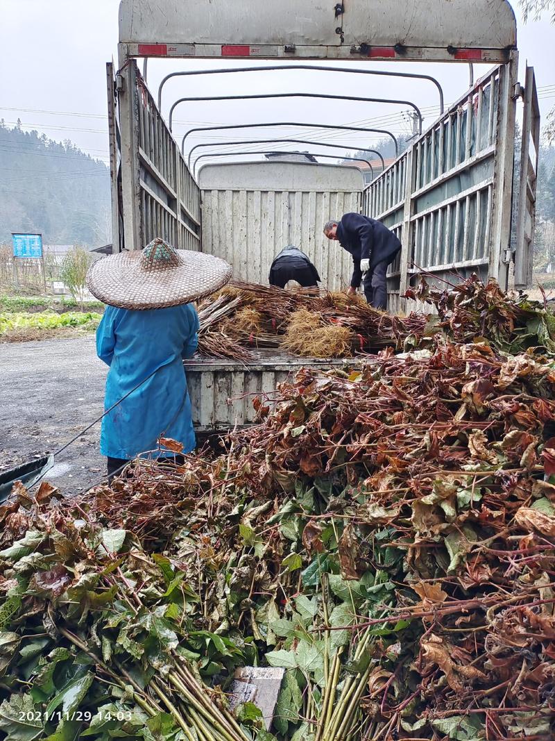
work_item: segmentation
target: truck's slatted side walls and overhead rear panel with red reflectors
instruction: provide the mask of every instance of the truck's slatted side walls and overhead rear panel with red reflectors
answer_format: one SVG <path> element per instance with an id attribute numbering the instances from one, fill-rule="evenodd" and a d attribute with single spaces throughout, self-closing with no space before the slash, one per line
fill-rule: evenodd
<path id="1" fill-rule="evenodd" d="M 438 280 L 453 269 L 462 276 L 475 270 L 503 288 L 530 282 L 539 109 L 530 67 L 525 87 L 517 83 L 516 22 L 506 0 L 430 0 L 426 13 L 417 13 L 417 0 L 391 7 L 280 0 L 263 13 L 258 0 L 122 0 L 119 20 L 118 72 L 108 65 L 115 250 L 139 249 L 153 236 L 202 249 L 201 191 L 138 72 L 138 57 L 492 62 L 498 66 L 366 188 L 362 210 L 403 243 L 388 278 L 391 308 L 402 307 L 420 270 Z M 511 248 L 520 97 L 522 196 Z"/>

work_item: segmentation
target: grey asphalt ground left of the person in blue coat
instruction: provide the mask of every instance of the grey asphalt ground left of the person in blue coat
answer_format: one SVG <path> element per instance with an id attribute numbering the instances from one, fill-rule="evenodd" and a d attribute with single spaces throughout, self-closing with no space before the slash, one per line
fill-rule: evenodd
<path id="1" fill-rule="evenodd" d="M 107 366 L 94 335 L 0 345 L 0 471 L 53 453 L 101 415 Z M 60 453 L 45 478 L 74 494 L 98 483 L 100 422 Z"/>

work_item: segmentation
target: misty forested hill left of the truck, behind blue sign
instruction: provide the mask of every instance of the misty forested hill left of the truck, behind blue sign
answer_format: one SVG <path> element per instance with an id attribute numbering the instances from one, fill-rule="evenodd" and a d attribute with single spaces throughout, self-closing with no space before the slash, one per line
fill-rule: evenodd
<path id="1" fill-rule="evenodd" d="M 14 231 L 44 244 L 111 242 L 110 170 L 72 142 L 0 124 L 0 243 Z"/>

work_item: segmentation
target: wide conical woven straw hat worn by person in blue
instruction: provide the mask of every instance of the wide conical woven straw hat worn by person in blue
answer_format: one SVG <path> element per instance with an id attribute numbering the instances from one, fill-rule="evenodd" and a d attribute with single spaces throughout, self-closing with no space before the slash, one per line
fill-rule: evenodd
<path id="1" fill-rule="evenodd" d="M 176 250 L 157 237 L 144 250 L 93 262 L 87 288 L 118 308 L 161 309 L 208 296 L 226 285 L 231 275 L 231 265 L 219 257 Z"/>

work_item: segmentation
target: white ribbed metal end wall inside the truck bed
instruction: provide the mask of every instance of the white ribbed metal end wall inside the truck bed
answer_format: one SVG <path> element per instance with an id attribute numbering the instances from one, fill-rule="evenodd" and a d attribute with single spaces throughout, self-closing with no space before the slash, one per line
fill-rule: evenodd
<path id="1" fill-rule="evenodd" d="M 360 212 L 362 193 L 292 190 L 203 190 L 202 250 L 233 265 L 233 276 L 267 283 L 270 265 L 286 245 L 312 260 L 322 285 L 349 285 L 352 259 L 323 235 L 329 219 Z"/>

